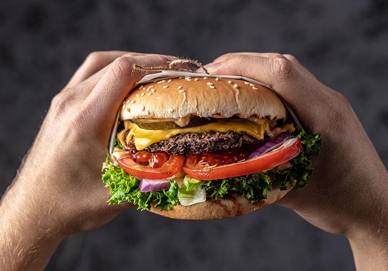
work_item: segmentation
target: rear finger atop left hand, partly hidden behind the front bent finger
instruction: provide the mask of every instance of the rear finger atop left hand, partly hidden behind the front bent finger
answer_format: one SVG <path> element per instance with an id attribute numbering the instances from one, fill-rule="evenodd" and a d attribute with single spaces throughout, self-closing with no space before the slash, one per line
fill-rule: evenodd
<path id="1" fill-rule="evenodd" d="M 126 51 L 96 51 L 90 53 L 81 66 L 77 69 L 74 75 L 70 78 L 65 88 L 71 88 L 81 83 L 89 76 L 95 74 L 103 67 L 111 63 L 118 57 L 126 54 Z"/>

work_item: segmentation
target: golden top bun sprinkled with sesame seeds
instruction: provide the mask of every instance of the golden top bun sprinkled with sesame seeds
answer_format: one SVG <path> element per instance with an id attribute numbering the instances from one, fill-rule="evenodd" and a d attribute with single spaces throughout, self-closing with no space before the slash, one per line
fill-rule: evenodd
<path id="1" fill-rule="evenodd" d="M 179 77 L 137 86 L 130 91 L 120 112 L 122 120 L 178 119 L 189 115 L 286 120 L 288 111 L 272 90 L 251 82 Z"/>

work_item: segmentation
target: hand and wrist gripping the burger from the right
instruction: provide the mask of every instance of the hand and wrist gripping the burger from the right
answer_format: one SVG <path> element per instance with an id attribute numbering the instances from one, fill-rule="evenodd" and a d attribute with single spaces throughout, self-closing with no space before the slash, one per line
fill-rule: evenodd
<path id="1" fill-rule="evenodd" d="M 210 74 L 268 84 L 291 105 L 308 133 L 322 133 L 311 182 L 278 204 L 325 231 L 347 236 L 357 267 L 367 266 L 365 257 L 357 255 L 368 252 L 374 255 L 370 263 L 388 268 L 387 169 L 347 99 L 287 54 L 229 53 L 206 68 Z"/>

